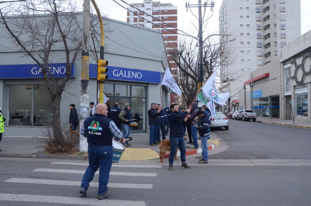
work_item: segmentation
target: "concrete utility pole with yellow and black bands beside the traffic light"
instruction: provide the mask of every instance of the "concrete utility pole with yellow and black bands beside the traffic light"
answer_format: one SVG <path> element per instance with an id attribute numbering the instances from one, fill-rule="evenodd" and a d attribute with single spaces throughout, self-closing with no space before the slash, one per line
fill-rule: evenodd
<path id="1" fill-rule="evenodd" d="M 90 47 L 90 0 L 83 1 L 80 127 L 89 116 L 89 47 Z M 80 132 L 79 132 L 80 133 Z M 87 151 L 87 140 L 80 134 L 80 152 Z"/>

